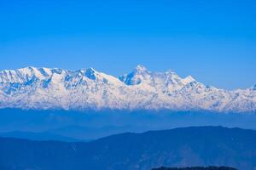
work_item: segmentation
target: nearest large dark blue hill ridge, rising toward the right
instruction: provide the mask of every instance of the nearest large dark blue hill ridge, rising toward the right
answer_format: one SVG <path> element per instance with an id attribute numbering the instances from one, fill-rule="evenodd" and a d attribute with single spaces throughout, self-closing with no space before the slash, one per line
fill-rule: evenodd
<path id="1" fill-rule="evenodd" d="M 256 131 L 226 127 L 183 127 L 122 133 L 92 142 L 0 139 L 3 169 L 119 169 L 154 167 L 256 167 Z"/>

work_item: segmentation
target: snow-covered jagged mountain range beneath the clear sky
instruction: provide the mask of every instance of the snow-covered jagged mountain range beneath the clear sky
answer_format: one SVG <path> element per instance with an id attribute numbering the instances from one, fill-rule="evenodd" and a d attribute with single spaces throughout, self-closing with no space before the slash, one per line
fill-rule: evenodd
<path id="1" fill-rule="evenodd" d="M 92 68 L 26 67 L 0 71 L 0 108 L 255 112 L 256 86 L 207 87 L 193 77 L 142 65 L 119 78 Z"/>

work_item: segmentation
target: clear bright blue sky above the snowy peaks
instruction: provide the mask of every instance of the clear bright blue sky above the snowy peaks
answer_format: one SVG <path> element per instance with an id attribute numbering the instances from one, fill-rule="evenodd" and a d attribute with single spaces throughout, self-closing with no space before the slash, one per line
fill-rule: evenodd
<path id="1" fill-rule="evenodd" d="M 137 64 L 218 88 L 256 83 L 256 1 L 0 1 L 0 70 Z"/>

